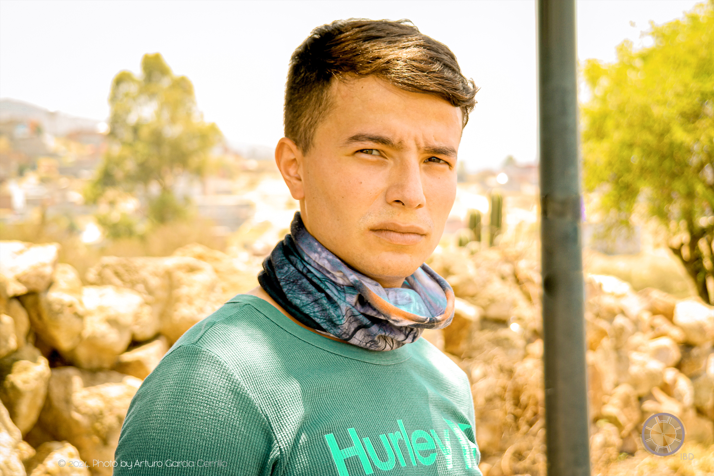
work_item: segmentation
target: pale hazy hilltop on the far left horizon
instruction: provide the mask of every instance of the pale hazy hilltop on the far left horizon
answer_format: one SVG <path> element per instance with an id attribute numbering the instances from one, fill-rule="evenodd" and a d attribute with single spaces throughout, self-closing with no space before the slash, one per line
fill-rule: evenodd
<path id="1" fill-rule="evenodd" d="M 52 136 L 66 136 L 72 132 L 97 131 L 101 121 L 70 116 L 59 111 L 48 111 L 17 99 L 0 99 L 0 123 L 11 121 L 39 123 L 42 131 Z"/>

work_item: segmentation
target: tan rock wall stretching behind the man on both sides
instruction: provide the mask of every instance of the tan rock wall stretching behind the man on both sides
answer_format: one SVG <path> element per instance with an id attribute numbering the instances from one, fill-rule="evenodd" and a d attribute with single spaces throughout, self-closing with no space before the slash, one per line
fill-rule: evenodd
<path id="1" fill-rule="evenodd" d="M 0 242 L 0 475 L 111 475 L 127 407 L 178 337 L 255 283 L 253 258 L 188 245 L 106 256 L 82 280 L 59 245 Z M 438 248 L 453 324 L 426 337 L 471 379 L 485 476 L 545 476 L 540 273 L 512 248 Z M 588 275 L 593 475 L 714 475 L 714 309 Z M 679 415 L 693 459 L 651 456 L 655 412 Z M 59 461 L 66 463 L 61 466 Z"/>

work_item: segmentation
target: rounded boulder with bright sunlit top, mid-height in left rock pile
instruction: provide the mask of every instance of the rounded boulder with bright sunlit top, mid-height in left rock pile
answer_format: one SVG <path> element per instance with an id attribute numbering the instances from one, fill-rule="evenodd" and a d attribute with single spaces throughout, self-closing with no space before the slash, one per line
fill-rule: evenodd
<path id="1" fill-rule="evenodd" d="M 85 315 L 80 340 L 68 353 L 69 360 L 81 368 L 111 368 L 129 346 L 136 323 L 151 321 L 151 308 L 131 289 L 84 286 L 82 304 Z M 156 333 L 156 328 L 148 333 Z"/>

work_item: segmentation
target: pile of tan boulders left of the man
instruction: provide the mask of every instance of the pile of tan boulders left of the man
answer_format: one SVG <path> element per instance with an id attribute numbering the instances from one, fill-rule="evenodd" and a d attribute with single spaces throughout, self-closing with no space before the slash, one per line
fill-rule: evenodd
<path id="1" fill-rule="evenodd" d="M 141 380 L 255 280 L 228 255 L 188 245 L 166 258 L 104 257 L 84 285 L 58 253 L 0 242 L 0 475 L 111 475 Z"/>

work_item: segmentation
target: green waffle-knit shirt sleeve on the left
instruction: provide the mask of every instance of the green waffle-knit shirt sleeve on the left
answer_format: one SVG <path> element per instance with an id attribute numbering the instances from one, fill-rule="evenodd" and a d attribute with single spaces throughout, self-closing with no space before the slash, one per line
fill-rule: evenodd
<path id="1" fill-rule="evenodd" d="M 268 421 L 231 368 L 181 345 L 131 400 L 114 476 L 273 474 L 280 451 Z"/>

